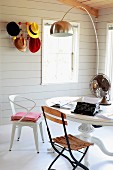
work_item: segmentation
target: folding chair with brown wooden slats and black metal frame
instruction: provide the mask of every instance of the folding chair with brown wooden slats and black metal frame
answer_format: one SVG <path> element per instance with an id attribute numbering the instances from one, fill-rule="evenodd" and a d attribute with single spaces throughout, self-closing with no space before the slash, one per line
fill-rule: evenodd
<path id="1" fill-rule="evenodd" d="M 57 157 L 50 164 L 48 170 L 52 170 L 51 167 L 53 166 L 55 161 L 60 157 L 60 155 L 65 157 L 71 163 L 73 170 L 76 169 L 78 166 L 80 166 L 84 170 L 89 170 L 85 165 L 83 165 L 81 163 L 81 161 L 83 160 L 84 156 L 86 155 L 89 146 L 93 145 L 93 143 L 83 141 L 83 140 L 78 139 L 77 137 L 75 137 L 71 134 L 67 134 L 66 115 L 64 113 L 62 113 L 61 111 L 55 110 L 55 109 L 47 107 L 47 106 L 42 106 L 42 111 L 43 111 L 45 123 L 46 123 L 46 126 L 47 126 L 47 132 L 48 132 L 50 143 L 52 145 L 52 148 L 58 153 Z M 48 124 L 47 119 L 49 119 L 49 120 L 51 120 L 55 123 L 62 124 L 63 130 L 64 130 L 64 136 L 52 138 L 51 130 L 49 128 L 49 124 Z M 62 150 L 59 150 L 58 147 L 62 148 Z M 81 151 L 81 149 L 84 149 L 84 148 L 85 148 L 85 151 Z M 77 160 L 74 157 L 74 155 L 72 153 L 73 150 L 79 151 L 80 153 L 82 153 L 82 156 L 79 160 Z M 64 151 L 69 151 L 71 158 L 68 157 L 66 154 L 64 154 L 63 153 Z"/>

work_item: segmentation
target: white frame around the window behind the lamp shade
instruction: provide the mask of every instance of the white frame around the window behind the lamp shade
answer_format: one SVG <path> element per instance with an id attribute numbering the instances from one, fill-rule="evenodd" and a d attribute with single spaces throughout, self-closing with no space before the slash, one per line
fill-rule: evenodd
<path id="1" fill-rule="evenodd" d="M 75 22 L 72 22 L 71 24 L 75 27 L 78 27 L 77 31 L 77 41 L 75 42 L 75 48 L 72 50 L 74 52 L 72 52 L 71 54 L 71 64 L 70 64 L 70 67 L 71 67 L 71 78 L 69 81 L 64 81 L 64 82 L 47 82 L 45 81 L 44 79 L 44 69 L 45 66 L 44 66 L 44 62 L 45 62 L 45 47 L 44 47 L 44 34 L 45 34 L 45 31 L 44 31 L 44 25 L 48 25 L 50 26 L 51 24 L 53 24 L 55 21 L 53 20 L 43 20 L 43 27 L 42 27 L 42 75 L 41 75 L 41 78 L 42 78 L 42 81 L 41 81 L 41 84 L 42 85 L 47 85 L 47 84 L 64 84 L 64 83 L 76 83 L 78 82 L 78 68 L 79 68 L 79 35 L 80 35 L 80 23 L 75 23 Z M 74 36 L 73 36 L 74 37 Z M 56 37 L 55 37 L 56 38 Z M 62 38 L 62 37 L 61 37 Z M 66 38 L 66 37 L 65 37 Z M 74 55 L 73 55 L 74 54 Z M 73 77 L 73 78 L 72 78 Z"/>

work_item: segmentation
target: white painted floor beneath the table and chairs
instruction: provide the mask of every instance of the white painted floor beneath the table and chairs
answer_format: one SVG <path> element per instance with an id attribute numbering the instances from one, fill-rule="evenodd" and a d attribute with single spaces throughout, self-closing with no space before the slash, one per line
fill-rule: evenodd
<path id="1" fill-rule="evenodd" d="M 44 124 L 43 124 L 44 125 Z M 69 122 L 69 131 L 78 134 L 79 124 Z M 59 127 L 58 127 L 59 128 Z M 58 128 L 53 126 L 54 132 Z M 41 142 L 39 134 L 40 153 L 37 154 L 34 145 L 32 129 L 23 128 L 20 141 L 14 141 L 12 151 L 8 151 L 10 143 L 11 125 L 0 126 L 0 170 L 47 170 L 48 165 L 56 156 L 55 153 L 48 152 L 50 148 L 44 125 L 45 143 Z M 99 136 L 109 151 L 113 152 L 113 127 L 102 127 L 93 133 Z M 78 157 L 78 153 L 75 154 Z M 90 170 L 113 170 L 113 157 L 107 156 L 95 145 L 88 153 Z M 54 164 L 54 169 L 71 170 L 71 165 L 62 157 Z M 78 168 L 77 170 L 80 170 Z"/>

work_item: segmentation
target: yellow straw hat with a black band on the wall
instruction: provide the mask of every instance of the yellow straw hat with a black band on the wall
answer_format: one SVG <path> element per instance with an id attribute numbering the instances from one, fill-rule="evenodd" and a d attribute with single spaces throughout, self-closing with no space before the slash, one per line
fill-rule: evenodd
<path id="1" fill-rule="evenodd" d="M 40 35 L 38 24 L 36 22 L 28 23 L 27 24 L 27 32 L 30 37 L 38 38 Z"/>

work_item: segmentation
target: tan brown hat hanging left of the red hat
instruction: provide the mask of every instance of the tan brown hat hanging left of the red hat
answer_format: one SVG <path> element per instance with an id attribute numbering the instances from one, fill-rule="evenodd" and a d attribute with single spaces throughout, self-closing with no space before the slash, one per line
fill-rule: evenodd
<path id="1" fill-rule="evenodd" d="M 19 51 L 26 51 L 26 46 L 27 46 L 27 43 L 26 43 L 26 40 L 24 37 L 18 37 L 14 40 L 14 45 L 15 47 L 19 50 Z"/>

